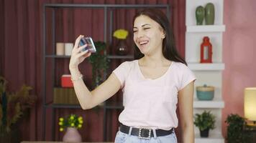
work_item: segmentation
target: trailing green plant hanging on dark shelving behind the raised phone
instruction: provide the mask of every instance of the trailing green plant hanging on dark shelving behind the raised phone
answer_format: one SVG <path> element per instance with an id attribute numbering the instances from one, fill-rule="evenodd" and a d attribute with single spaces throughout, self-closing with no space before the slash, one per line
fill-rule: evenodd
<path id="1" fill-rule="evenodd" d="M 103 41 L 96 41 L 94 42 L 96 46 L 96 53 L 91 54 L 88 58 L 88 61 L 91 63 L 92 66 L 92 73 L 93 73 L 93 87 L 97 87 L 101 82 L 104 80 L 104 73 L 108 69 L 109 61 L 105 54 L 106 51 L 106 43 Z"/>

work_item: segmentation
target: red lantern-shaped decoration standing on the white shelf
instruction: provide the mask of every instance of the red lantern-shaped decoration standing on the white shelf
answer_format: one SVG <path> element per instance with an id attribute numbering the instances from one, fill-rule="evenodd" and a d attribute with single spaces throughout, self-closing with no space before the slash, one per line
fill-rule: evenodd
<path id="1" fill-rule="evenodd" d="M 201 44 L 200 63 L 212 63 L 212 46 L 208 36 L 204 36 L 204 41 Z"/>

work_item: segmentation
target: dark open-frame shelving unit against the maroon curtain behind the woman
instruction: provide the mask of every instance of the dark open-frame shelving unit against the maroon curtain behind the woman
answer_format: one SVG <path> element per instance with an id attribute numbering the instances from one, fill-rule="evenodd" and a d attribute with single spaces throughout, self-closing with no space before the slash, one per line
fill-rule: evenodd
<path id="1" fill-rule="evenodd" d="M 168 18 L 170 18 L 170 9 L 169 9 L 169 5 L 168 4 L 44 4 L 43 5 L 43 9 L 42 9 L 42 47 L 43 47 L 43 55 L 42 55 L 42 99 L 43 99 L 43 107 L 42 107 L 42 117 L 44 119 L 42 119 L 42 137 L 43 139 L 45 139 L 45 127 L 47 125 L 46 122 L 46 109 L 52 109 L 52 123 L 53 124 L 51 126 L 52 128 L 52 141 L 55 140 L 55 126 L 54 126 L 54 121 L 55 121 L 55 109 L 81 109 L 80 105 L 73 105 L 73 104 L 53 104 L 52 102 L 47 102 L 47 93 L 46 93 L 46 72 L 51 72 L 54 73 L 55 71 L 55 59 L 69 59 L 70 56 L 58 56 L 58 55 L 54 55 L 54 54 L 46 54 L 47 52 L 47 43 L 46 43 L 46 39 L 47 39 L 47 35 L 46 33 L 49 32 L 47 30 L 47 14 L 46 14 L 46 9 L 51 9 L 51 13 L 50 13 L 50 19 L 51 21 L 49 21 L 51 23 L 51 34 L 52 34 L 52 39 L 51 39 L 51 43 L 50 45 L 52 45 L 52 47 L 55 47 L 55 9 L 103 9 L 104 10 L 104 41 L 106 42 L 107 39 L 109 41 L 112 40 L 112 24 L 113 24 L 113 9 L 141 9 L 141 8 L 157 8 L 157 9 L 165 9 L 166 10 L 166 14 L 168 16 Z M 107 21 L 109 20 L 109 27 L 107 27 Z M 107 30 L 109 31 L 109 35 L 107 35 Z M 53 53 L 55 53 L 55 49 L 53 49 L 52 51 Z M 106 53 L 107 54 L 107 53 Z M 108 55 L 107 56 L 108 59 L 110 59 L 111 61 L 116 60 L 116 59 L 134 59 L 133 55 L 127 55 L 127 56 L 117 56 L 117 55 Z M 52 69 L 49 71 L 46 67 L 47 67 L 47 62 L 46 60 L 52 60 Z M 52 75 L 52 83 L 55 83 L 54 80 L 54 74 Z M 106 76 L 105 76 L 106 77 Z M 54 87 L 52 87 L 53 89 Z M 104 142 L 108 141 L 107 139 L 107 132 L 106 132 L 106 122 L 107 122 L 107 112 L 111 112 L 113 110 L 121 110 L 124 109 L 122 102 L 104 102 L 104 106 L 101 107 L 104 110 L 104 124 L 103 124 L 103 130 L 104 130 Z M 49 132 L 49 131 L 47 131 Z"/>

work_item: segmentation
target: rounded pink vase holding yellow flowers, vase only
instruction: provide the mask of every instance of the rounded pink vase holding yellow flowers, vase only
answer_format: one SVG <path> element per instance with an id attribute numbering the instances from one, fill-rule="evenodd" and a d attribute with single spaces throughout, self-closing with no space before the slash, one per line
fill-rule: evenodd
<path id="1" fill-rule="evenodd" d="M 68 127 L 63 136 L 63 142 L 82 142 L 81 134 L 75 127 Z"/>

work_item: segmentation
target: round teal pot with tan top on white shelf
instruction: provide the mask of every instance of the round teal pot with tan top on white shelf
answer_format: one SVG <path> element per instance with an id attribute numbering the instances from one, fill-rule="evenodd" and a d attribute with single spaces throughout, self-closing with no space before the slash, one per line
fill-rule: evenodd
<path id="1" fill-rule="evenodd" d="M 198 100 L 214 99 L 214 87 L 207 87 L 206 84 L 203 87 L 196 87 L 196 97 Z"/>

